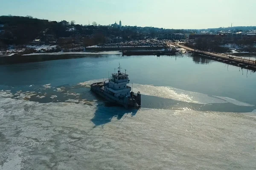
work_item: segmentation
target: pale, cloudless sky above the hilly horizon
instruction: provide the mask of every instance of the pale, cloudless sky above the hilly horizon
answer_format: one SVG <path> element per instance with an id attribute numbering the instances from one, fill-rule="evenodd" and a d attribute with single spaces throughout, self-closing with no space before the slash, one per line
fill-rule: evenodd
<path id="1" fill-rule="evenodd" d="M 0 15 L 159 28 L 256 26 L 256 0 L 0 0 Z"/>

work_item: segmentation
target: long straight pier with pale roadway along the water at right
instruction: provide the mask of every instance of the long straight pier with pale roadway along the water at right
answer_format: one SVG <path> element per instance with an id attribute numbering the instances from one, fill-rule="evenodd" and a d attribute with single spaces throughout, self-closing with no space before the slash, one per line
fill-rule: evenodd
<path id="1" fill-rule="evenodd" d="M 220 61 L 220 62 L 226 62 L 226 63 L 230 63 L 232 65 L 237 65 L 237 66 L 241 66 L 241 67 L 244 66 L 245 68 L 256 70 L 256 60 L 250 60 L 250 59 L 244 59 L 244 58 L 240 58 L 240 57 L 230 56 L 229 54 L 218 54 L 215 52 L 196 50 L 193 48 L 186 47 L 184 45 L 180 45 L 180 44 L 178 44 L 178 42 L 171 43 L 171 44 L 175 45 L 179 48 L 184 48 L 187 51 L 191 51 L 191 52 L 194 52 L 197 54 L 207 56 L 212 59 L 216 59 L 217 61 Z"/>

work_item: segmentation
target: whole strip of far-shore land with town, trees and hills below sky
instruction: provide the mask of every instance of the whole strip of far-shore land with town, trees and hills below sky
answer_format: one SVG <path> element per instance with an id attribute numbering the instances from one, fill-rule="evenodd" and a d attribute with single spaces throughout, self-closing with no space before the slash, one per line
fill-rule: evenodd
<path id="1" fill-rule="evenodd" d="M 175 23 L 174 23 L 175 24 Z M 166 47 L 184 42 L 190 48 L 220 53 L 256 52 L 256 26 L 208 29 L 165 29 L 126 26 L 122 21 L 102 26 L 62 20 L 49 21 L 32 16 L 0 16 L 0 55 L 35 52 L 88 51 L 90 48 Z"/>

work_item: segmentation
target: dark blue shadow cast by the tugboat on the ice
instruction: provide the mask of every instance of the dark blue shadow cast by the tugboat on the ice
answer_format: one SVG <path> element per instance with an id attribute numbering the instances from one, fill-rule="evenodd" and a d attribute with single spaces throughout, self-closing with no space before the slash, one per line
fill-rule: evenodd
<path id="1" fill-rule="evenodd" d="M 122 122 L 126 116 L 135 116 L 138 109 L 125 109 L 118 105 L 105 102 L 102 105 L 97 105 L 93 119 L 91 121 L 95 126 L 105 125 L 113 119 Z"/>

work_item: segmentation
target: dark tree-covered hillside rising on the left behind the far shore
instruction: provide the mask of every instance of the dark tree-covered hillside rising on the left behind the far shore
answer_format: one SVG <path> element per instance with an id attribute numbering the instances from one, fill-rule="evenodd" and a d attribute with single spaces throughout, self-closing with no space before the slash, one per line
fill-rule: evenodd
<path id="1" fill-rule="evenodd" d="M 123 40 L 143 40 L 158 34 L 183 33 L 184 30 L 137 26 L 82 26 L 75 20 L 61 22 L 41 20 L 32 16 L 0 16 L 0 48 L 8 45 L 24 45 L 35 40 L 42 43 L 79 43 L 84 46 L 105 43 L 108 38 L 122 37 Z M 39 43 L 39 42 L 38 42 Z"/>

